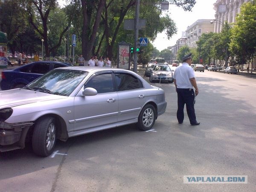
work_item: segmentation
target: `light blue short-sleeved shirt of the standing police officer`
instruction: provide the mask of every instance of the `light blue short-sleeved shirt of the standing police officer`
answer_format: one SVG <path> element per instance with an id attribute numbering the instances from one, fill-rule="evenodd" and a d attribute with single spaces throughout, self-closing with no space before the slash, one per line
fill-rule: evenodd
<path id="1" fill-rule="evenodd" d="M 177 88 L 192 89 L 191 78 L 195 77 L 195 73 L 192 67 L 187 63 L 180 64 L 174 71 L 173 78 L 176 79 Z"/>

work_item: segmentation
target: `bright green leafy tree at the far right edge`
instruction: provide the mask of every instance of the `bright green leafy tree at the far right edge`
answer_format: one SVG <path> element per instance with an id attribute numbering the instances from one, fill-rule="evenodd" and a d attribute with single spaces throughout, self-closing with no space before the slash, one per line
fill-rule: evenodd
<path id="1" fill-rule="evenodd" d="M 252 0 L 241 6 L 241 12 L 236 17 L 236 23 L 231 30 L 230 50 L 237 55 L 239 61 L 247 59 L 250 65 L 250 63 L 253 63 L 253 57 L 256 55 L 255 45 L 256 0 Z"/>

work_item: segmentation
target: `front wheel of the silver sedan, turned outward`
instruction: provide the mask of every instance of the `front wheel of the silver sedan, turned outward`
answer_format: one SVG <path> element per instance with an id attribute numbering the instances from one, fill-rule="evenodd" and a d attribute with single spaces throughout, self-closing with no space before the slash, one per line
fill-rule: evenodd
<path id="1" fill-rule="evenodd" d="M 47 157 L 52 154 L 56 144 L 56 123 L 53 117 L 44 117 L 36 124 L 32 136 L 35 154 Z"/>

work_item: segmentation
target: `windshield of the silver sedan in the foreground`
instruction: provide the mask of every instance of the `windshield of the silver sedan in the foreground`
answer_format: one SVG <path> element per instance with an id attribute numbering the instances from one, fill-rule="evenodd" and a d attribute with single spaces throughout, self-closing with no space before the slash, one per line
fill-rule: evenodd
<path id="1" fill-rule="evenodd" d="M 25 88 L 44 93 L 69 96 L 87 74 L 88 72 L 80 70 L 51 70 L 44 76 L 32 81 Z"/>

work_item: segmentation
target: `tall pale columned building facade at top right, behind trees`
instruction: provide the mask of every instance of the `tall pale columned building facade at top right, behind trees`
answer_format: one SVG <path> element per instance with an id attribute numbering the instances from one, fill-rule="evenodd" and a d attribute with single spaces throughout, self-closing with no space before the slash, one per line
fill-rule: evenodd
<path id="1" fill-rule="evenodd" d="M 240 13 L 241 5 L 248 1 L 249 0 L 217 0 L 216 3 L 213 4 L 215 10 L 215 20 L 213 20 L 214 32 L 221 32 L 225 21 L 235 23 L 236 15 Z"/>

